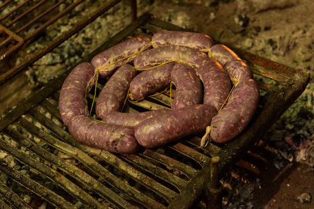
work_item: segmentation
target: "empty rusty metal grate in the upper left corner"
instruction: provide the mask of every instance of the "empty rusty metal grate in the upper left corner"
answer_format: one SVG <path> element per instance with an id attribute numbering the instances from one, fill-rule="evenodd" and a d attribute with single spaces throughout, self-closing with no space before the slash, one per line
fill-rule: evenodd
<path id="1" fill-rule="evenodd" d="M 11 59 L 12 56 L 20 56 L 24 61 L 19 65 L 11 66 L 5 72 L 0 72 L 0 85 L 8 82 L 9 79 L 17 75 L 19 72 L 27 68 L 29 65 L 40 59 L 45 54 L 51 52 L 54 48 L 61 45 L 62 42 L 68 40 L 71 36 L 78 33 L 85 26 L 96 20 L 97 17 L 105 13 L 112 6 L 119 3 L 121 0 L 106 1 L 98 6 L 98 9 L 91 12 L 87 17 L 82 17 L 82 20 L 75 24 L 71 29 L 63 32 L 60 36 L 54 38 L 49 44 L 40 48 L 33 54 L 27 54 L 22 47 L 29 40 L 35 41 L 35 37 L 43 32 L 48 26 L 60 20 L 63 16 L 70 13 L 76 6 L 84 3 L 85 0 L 72 1 L 68 3 L 66 0 L 60 1 L 29 1 L 25 0 L 22 3 L 15 5 L 11 0 L 7 0 L 0 5 L 0 12 L 4 8 L 11 6 L 8 13 L 0 17 L 0 61 Z M 66 8 L 60 9 L 61 4 L 66 3 Z M 93 2 L 88 2 L 89 6 L 93 6 Z M 59 11 L 61 10 L 61 11 Z M 48 18 L 47 18 L 48 17 Z M 79 19 L 79 17 L 77 17 Z M 33 31 L 27 31 L 34 24 L 38 24 L 38 28 Z"/>

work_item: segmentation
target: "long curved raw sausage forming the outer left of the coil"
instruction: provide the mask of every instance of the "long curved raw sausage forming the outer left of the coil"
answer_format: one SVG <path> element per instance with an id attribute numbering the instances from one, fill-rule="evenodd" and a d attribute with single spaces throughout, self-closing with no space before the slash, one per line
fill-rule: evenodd
<path id="1" fill-rule="evenodd" d="M 89 63 L 74 68 L 63 83 L 59 110 L 70 134 L 83 144 L 114 153 L 135 153 L 140 148 L 133 127 L 110 125 L 89 118 L 86 95 L 96 82 L 97 71 Z"/>

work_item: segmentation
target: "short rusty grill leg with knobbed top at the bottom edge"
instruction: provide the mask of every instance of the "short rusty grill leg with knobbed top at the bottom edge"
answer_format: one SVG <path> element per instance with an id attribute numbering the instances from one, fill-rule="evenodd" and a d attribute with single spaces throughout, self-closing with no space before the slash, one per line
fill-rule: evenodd
<path id="1" fill-rule="evenodd" d="M 219 160 L 220 159 L 218 156 L 211 158 L 211 180 L 209 183 L 207 183 L 205 188 L 208 209 L 222 208 L 221 191 L 223 190 L 223 185 L 221 185 L 218 179 Z"/>

